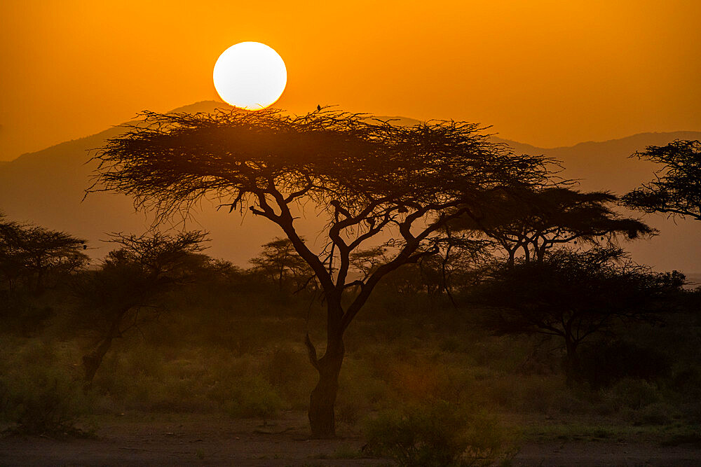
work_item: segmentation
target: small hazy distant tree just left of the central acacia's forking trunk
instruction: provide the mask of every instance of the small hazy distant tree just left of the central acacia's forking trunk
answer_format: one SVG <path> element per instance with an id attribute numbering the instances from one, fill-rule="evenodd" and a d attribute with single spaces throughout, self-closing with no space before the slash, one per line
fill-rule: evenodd
<path id="1" fill-rule="evenodd" d="M 254 265 L 254 270 L 277 284 L 278 290 L 283 291 L 285 284 L 290 282 L 294 283 L 295 290 L 299 290 L 314 277 L 309 265 L 294 250 L 290 239 L 275 237 L 262 246 L 261 254 L 249 260 L 249 263 Z"/>

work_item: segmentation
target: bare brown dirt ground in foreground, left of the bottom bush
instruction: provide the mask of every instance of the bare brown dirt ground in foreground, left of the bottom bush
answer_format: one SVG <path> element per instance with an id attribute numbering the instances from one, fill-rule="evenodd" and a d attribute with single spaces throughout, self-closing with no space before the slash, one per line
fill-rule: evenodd
<path id="1" fill-rule="evenodd" d="M 298 414 L 289 414 L 268 424 L 260 420 L 192 415 L 101 421 L 97 439 L 56 440 L 17 435 L 1 438 L 0 466 L 388 463 L 382 459 L 333 459 L 343 453 L 358 452 L 362 439 L 341 433 L 337 440 L 310 440 L 304 422 L 304 417 Z"/>

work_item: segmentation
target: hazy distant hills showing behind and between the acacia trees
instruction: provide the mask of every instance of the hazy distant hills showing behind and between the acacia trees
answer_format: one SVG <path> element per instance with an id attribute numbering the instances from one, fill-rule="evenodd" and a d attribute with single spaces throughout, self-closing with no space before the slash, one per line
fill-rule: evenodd
<path id="1" fill-rule="evenodd" d="M 226 109 L 220 102 L 198 102 L 175 109 L 174 112 L 211 112 Z M 414 125 L 418 120 L 404 117 L 378 117 L 395 120 L 403 125 Z M 99 148 L 104 140 L 121 134 L 121 127 L 112 127 L 92 136 L 66 141 L 43 151 L 27 153 L 11 162 L 0 162 L 0 211 L 9 218 L 27 221 L 56 230 L 65 230 L 90 241 L 90 252 L 100 258 L 109 245 L 100 242 L 109 232 L 142 232 L 151 225 L 148 214 L 136 213 L 132 200 L 123 195 L 95 193 L 83 200 L 84 190 L 90 185 L 95 162 L 88 162 L 90 149 Z M 701 139 L 701 132 L 642 133 L 631 137 L 602 142 L 586 142 L 562 148 L 536 148 L 508 139 L 494 137 L 494 141 L 509 144 L 517 153 L 543 154 L 562 161 L 561 176 L 580 179 L 586 190 L 625 191 L 648 181 L 654 165 L 628 158 L 646 146 L 660 146 L 674 139 Z M 320 226 L 311 210 L 306 212 L 308 223 L 304 229 L 308 238 L 315 237 Z M 647 216 L 646 220 L 661 235 L 650 241 L 637 241 L 627 246 L 639 263 L 655 266 L 658 270 L 677 269 L 701 272 L 701 222 L 677 220 L 664 216 Z M 245 265 L 255 256 L 260 244 L 281 232 L 265 219 L 247 216 L 244 219 L 228 209 L 216 210 L 214 202 L 203 202 L 186 228 L 200 228 L 211 233 L 210 255 Z M 181 225 L 174 225 L 181 228 Z"/>

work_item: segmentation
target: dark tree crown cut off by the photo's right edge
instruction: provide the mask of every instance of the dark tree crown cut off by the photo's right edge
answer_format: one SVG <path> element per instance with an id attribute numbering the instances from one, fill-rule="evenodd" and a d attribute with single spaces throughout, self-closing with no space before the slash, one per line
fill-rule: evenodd
<path id="1" fill-rule="evenodd" d="M 655 180 L 626 193 L 627 206 L 701 221 L 701 141 L 678 139 L 667 146 L 648 146 L 634 156 L 658 162 L 662 168 L 655 172 Z"/>

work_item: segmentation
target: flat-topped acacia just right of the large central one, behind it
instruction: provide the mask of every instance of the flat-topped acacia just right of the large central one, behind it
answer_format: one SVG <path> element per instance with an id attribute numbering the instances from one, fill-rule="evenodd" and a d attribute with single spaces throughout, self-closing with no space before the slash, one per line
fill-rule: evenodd
<path id="1" fill-rule="evenodd" d="M 509 265 L 514 265 L 519 251 L 526 263 L 531 259 L 541 263 L 545 253 L 556 245 L 576 240 L 599 244 L 618 235 L 634 239 L 655 232 L 637 219 L 615 213 L 617 198 L 611 193 L 547 187 L 518 197 L 501 193 L 496 197 L 496 209 L 481 218 L 458 218 L 451 228 L 494 239 L 507 254 Z"/>

